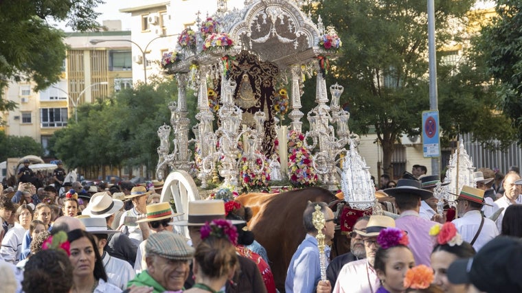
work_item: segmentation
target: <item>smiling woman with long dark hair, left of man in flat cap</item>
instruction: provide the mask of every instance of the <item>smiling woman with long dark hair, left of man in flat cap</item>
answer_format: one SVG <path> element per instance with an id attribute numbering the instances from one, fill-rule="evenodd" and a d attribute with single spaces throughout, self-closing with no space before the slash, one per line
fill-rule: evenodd
<path id="1" fill-rule="evenodd" d="M 71 252 L 69 260 L 73 266 L 73 292 L 122 292 L 107 283 L 102 257 L 91 233 L 76 229 L 67 233 L 67 240 Z"/>

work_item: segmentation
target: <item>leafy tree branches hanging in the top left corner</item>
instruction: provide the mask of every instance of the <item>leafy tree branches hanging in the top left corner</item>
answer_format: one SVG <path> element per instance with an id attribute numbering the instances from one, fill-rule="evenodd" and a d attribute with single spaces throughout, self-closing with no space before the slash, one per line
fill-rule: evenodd
<path id="1" fill-rule="evenodd" d="M 16 107 L 2 97 L 11 80 L 32 80 L 35 91 L 60 80 L 67 46 L 63 32 L 47 21 L 69 20 L 73 30 L 96 30 L 99 3 L 103 1 L 0 1 L 0 110 Z"/>

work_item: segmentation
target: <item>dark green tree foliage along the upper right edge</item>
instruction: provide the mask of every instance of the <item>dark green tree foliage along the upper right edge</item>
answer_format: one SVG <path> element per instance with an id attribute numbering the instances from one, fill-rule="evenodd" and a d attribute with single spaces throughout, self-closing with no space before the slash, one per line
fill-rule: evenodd
<path id="1" fill-rule="evenodd" d="M 498 86 L 498 106 L 510 117 L 522 143 L 522 3 L 497 1 L 497 16 L 482 30 L 477 47 Z"/>

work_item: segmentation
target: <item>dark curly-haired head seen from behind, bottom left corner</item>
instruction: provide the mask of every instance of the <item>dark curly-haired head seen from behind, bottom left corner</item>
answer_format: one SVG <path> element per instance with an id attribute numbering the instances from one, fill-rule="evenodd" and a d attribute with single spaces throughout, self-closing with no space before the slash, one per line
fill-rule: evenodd
<path id="1" fill-rule="evenodd" d="M 42 250 L 27 260 L 23 271 L 25 293 L 69 293 L 73 286 L 73 268 L 64 250 Z"/>

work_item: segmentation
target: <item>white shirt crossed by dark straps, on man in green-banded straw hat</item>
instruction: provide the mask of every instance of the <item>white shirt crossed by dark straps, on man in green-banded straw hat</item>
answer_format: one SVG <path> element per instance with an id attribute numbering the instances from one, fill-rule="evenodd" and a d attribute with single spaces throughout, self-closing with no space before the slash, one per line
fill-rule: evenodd
<path id="1" fill-rule="evenodd" d="M 475 234 L 477 234 L 477 231 L 479 231 L 481 218 L 482 215 L 480 211 L 474 210 L 468 211 L 462 218 L 455 219 L 451 222 L 455 224 L 455 228 L 457 228 L 459 234 L 462 235 L 462 239 L 466 242 L 471 242 L 473 237 L 475 237 Z M 497 235 L 499 235 L 499 230 L 497 229 L 495 222 L 488 218 L 484 218 L 484 226 L 482 226 L 482 230 L 475 240 L 473 248 L 475 248 L 475 251 L 479 251 L 484 244 L 497 237 Z"/>

